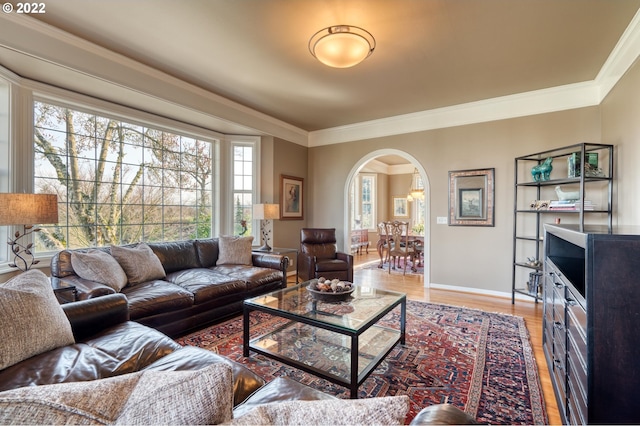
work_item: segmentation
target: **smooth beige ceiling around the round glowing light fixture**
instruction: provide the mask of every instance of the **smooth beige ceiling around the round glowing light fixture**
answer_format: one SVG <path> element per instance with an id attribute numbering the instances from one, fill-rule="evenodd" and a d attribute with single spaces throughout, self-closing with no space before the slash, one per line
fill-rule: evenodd
<path id="1" fill-rule="evenodd" d="M 594 80 L 639 7 L 640 0 L 55 0 L 31 17 L 316 131 Z M 374 53 L 348 69 L 315 60 L 309 38 L 336 24 L 370 31 Z M 33 78 L 29 67 L 12 71 Z"/>

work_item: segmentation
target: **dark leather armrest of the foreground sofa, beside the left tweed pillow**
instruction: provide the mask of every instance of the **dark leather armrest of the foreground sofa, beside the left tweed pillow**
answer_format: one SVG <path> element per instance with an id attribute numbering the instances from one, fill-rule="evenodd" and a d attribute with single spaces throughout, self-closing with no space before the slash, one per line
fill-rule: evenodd
<path id="1" fill-rule="evenodd" d="M 111 326 L 129 321 L 128 304 L 124 294 L 116 293 L 61 306 L 78 342 Z"/>

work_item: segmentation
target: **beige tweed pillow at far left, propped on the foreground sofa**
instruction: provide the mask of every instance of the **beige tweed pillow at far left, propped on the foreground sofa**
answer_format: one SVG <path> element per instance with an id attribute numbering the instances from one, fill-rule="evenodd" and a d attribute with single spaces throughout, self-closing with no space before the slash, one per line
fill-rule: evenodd
<path id="1" fill-rule="evenodd" d="M 32 269 L 0 284 L 0 370 L 75 343 L 49 278 Z"/>

